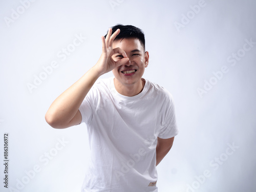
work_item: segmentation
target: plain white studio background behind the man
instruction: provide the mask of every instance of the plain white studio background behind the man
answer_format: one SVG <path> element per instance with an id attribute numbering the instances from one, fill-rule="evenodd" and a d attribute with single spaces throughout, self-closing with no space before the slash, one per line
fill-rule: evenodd
<path id="1" fill-rule="evenodd" d="M 55 130 L 45 113 L 97 62 L 100 36 L 116 24 L 144 31 L 150 53 L 144 78 L 175 99 L 180 133 L 158 165 L 159 191 L 255 191 L 256 1 L 21 2 L 0 2 L 1 191 L 80 191 L 89 154 L 86 125 Z M 86 39 L 66 59 L 58 57 L 76 34 Z M 29 89 L 52 61 L 57 67 Z M 46 156 L 50 152 L 54 157 Z"/>

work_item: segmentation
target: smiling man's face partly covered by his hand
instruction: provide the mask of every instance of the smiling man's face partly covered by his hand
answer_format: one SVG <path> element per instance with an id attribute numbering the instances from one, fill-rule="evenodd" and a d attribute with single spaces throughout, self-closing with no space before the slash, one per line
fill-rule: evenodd
<path id="1" fill-rule="evenodd" d="M 139 86 L 141 77 L 148 65 L 148 52 L 144 52 L 141 42 L 137 38 L 123 38 L 114 40 L 113 49 L 121 48 L 125 51 L 129 61 L 112 70 L 118 86 Z M 114 54 L 113 59 L 122 58 L 121 54 Z"/>

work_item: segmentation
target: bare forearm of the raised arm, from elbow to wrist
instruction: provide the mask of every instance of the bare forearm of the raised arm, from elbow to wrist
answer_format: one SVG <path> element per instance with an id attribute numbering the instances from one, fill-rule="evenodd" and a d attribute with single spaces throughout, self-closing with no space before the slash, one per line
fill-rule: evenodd
<path id="1" fill-rule="evenodd" d="M 69 89 L 58 96 L 46 113 L 46 121 L 52 127 L 62 127 L 68 124 L 76 115 L 84 97 L 99 76 L 97 70 L 91 68 Z"/>

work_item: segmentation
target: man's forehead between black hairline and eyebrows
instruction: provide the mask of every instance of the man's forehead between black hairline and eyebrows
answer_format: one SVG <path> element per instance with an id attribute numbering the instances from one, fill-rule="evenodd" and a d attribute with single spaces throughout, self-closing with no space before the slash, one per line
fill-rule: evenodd
<path id="1" fill-rule="evenodd" d="M 124 51 L 138 49 L 143 52 L 143 46 L 141 45 L 140 40 L 137 38 L 116 39 L 113 41 L 113 49 L 117 47 L 121 48 Z"/>

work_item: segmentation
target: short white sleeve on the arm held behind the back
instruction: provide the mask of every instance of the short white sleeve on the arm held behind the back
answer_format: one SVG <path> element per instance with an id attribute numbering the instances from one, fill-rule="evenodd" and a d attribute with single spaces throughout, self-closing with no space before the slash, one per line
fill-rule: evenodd
<path id="1" fill-rule="evenodd" d="M 158 135 L 161 139 L 168 139 L 178 135 L 179 130 L 176 123 L 176 114 L 173 96 L 167 92 L 166 105 L 162 111 L 163 120 L 160 133 Z"/>

